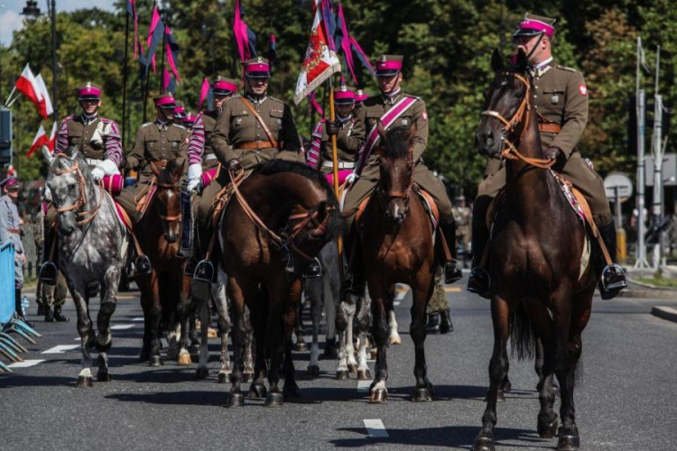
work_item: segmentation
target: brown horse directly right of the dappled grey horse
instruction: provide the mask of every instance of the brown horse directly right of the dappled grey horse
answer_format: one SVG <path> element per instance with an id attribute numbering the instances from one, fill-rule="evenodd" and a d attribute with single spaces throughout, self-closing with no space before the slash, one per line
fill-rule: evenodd
<path id="1" fill-rule="evenodd" d="M 170 335 L 168 358 L 176 357 L 176 312 L 179 306 L 188 305 L 190 301 L 190 278 L 183 275 L 186 260 L 177 256 L 181 240 L 179 182 L 183 163 L 170 161 L 162 171 L 152 167 L 157 178 L 155 193 L 146 206 L 144 217 L 134 226 L 134 234 L 150 259 L 153 270 L 150 274 L 137 276 L 136 284 L 141 291 L 141 307 L 144 309 L 141 359 L 148 359 L 151 366 L 160 366 L 162 327 L 167 328 Z M 186 331 L 187 328 L 183 328 L 181 335 L 185 336 Z M 187 364 L 190 364 L 190 359 Z"/>

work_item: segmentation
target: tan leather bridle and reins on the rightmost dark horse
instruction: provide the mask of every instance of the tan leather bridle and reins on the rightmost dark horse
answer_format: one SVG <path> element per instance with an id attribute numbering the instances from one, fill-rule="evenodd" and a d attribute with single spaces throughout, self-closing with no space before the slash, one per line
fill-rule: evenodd
<path id="1" fill-rule="evenodd" d="M 524 97 L 522 98 L 522 102 L 517 108 L 515 115 L 513 115 L 510 120 L 507 120 L 503 115 L 494 110 L 485 110 L 481 113 L 483 116 L 493 117 L 504 125 L 501 129 L 501 143 L 504 145 L 504 148 L 501 151 L 501 158 L 504 158 L 505 160 L 521 160 L 529 165 L 535 166 L 536 168 L 549 169 L 555 163 L 555 159 L 526 157 L 517 150 L 515 143 L 511 142 L 507 138 L 515 132 L 515 129 L 519 124 L 522 124 L 522 132 L 519 135 L 517 143 L 522 142 L 524 133 L 526 133 L 529 122 L 531 121 L 532 108 L 529 106 L 529 98 L 532 95 L 532 89 L 529 81 L 523 76 L 511 72 L 505 72 L 504 75 L 512 75 L 513 77 L 517 78 L 522 82 L 525 88 Z M 526 116 L 525 119 L 524 116 Z"/>

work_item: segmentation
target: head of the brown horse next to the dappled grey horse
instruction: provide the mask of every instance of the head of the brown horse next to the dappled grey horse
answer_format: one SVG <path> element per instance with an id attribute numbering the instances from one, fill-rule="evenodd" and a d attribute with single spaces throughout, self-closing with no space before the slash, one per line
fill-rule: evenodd
<path id="1" fill-rule="evenodd" d="M 155 206 L 162 220 L 164 238 L 169 243 L 176 243 L 181 237 L 181 193 L 179 181 L 183 174 L 185 161 L 178 163 L 170 161 L 167 166 L 158 171 Z"/>

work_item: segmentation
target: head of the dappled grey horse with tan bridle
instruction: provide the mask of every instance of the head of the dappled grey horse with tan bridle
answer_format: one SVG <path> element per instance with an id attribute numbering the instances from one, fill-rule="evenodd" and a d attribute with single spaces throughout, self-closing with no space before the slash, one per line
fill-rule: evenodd
<path id="1" fill-rule="evenodd" d="M 91 182 L 89 167 L 74 148 L 57 155 L 47 152 L 45 158 L 50 165 L 47 187 L 59 213 L 59 233 L 69 236 L 79 225 L 78 210 L 87 204 L 86 187 Z"/>

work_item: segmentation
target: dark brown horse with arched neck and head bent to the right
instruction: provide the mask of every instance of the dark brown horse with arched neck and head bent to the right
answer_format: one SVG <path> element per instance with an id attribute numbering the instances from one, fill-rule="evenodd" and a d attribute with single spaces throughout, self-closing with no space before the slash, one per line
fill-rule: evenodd
<path id="1" fill-rule="evenodd" d="M 230 176 L 236 177 L 232 171 Z M 227 294 L 233 303 L 234 359 L 226 406 L 244 405 L 240 383 L 245 306 L 255 335 L 255 381 L 247 396 L 265 398 L 267 407 L 281 406 L 283 397 L 301 395 L 292 362 L 301 274 L 338 235 L 338 202 L 320 173 L 291 161 L 264 162 L 233 189 L 234 199 L 218 226 L 219 264 L 227 273 Z M 266 370 L 269 391 L 264 385 Z"/>

